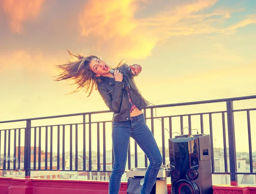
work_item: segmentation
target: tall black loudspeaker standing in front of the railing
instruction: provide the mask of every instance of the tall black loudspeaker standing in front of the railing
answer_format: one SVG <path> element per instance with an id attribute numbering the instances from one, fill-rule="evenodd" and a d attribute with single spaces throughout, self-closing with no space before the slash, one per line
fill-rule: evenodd
<path id="1" fill-rule="evenodd" d="M 169 139 L 172 194 L 212 194 L 209 135 Z"/>

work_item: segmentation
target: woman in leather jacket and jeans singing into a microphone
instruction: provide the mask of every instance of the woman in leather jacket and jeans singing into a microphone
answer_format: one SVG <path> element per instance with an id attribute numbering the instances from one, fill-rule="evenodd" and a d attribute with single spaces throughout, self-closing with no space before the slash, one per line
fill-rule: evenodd
<path id="1" fill-rule="evenodd" d="M 140 194 L 150 194 L 156 180 L 163 158 L 153 134 L 146 125 L 143 108 L 148 102 L 141 96 L 134 82 L 134 76 L 140 74 L 142 68 L 134 64 L 121 64 L 109 72 L 110 67 L 97 56 L 83 57 L 69 54 L 77 58 L 75 62 L 57 65 L 61 74 L 56 81 L 71 79 L 77 85 L 77 92 L 84 89 L 90 94 L 93 88 L 99 91 L 105 104 L 113 112 L 112 142 L 114 164 L 109 180 L 109 194 L 118 194 L 121 177 L 125 171 L 129 139 L 132 137 L 149 159 L 144 183 Z"/>

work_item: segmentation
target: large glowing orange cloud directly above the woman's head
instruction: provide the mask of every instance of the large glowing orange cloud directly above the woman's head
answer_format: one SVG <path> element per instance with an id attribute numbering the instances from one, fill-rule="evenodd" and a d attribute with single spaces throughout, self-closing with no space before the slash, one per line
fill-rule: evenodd
<path id="1" fill-rule="evenodd" d="M 155 46 L 156 38 L 150 41 L 143 29 L 138 31 L 140 23 L 134 18 L 137 9 L 135 0 L 88 0 L 79 15 L 81 35 L 93 38 L 96 49 L 108 47 L 108 52 L 120 56 L 144 58 Z"/>

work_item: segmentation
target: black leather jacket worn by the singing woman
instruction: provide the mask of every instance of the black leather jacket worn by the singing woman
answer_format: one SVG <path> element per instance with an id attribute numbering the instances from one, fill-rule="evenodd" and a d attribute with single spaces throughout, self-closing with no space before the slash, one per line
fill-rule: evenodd
<path id="1" fill-rule="evenodd" d="M 148 102 L 144 100 L 134 82 L 133 78 L 136 75 L 131 72 L 131 67 L 123 64 L 117 69 L 123 74 L 122 82 L 115 81 L 114 78 L 101 77 L 102 81 L 98 84 L 98 91 L 105 104 L 113 112 L 113 122 L 123 122 L 131 119 L 126 87 L 130 91 L 131 101 L 139 110 L 146 107 Z"/>

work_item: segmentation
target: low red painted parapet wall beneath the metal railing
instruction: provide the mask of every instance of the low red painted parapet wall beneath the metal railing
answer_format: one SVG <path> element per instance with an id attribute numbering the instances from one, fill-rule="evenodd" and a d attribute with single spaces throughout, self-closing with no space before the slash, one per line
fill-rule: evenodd
<path id="1" fill-rule="evenodd" d="M 168 194 L 171 185 L 167 184 Z M 256 194 L 256 186 L 215 185 L 213 194 Z M 127 194 L 122 182 L 119 194 Z M 108 194 L 108 181 L 47 180 L 0 177 L 0 194 Z"/>

